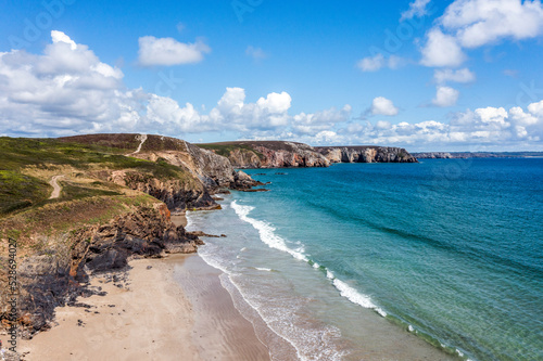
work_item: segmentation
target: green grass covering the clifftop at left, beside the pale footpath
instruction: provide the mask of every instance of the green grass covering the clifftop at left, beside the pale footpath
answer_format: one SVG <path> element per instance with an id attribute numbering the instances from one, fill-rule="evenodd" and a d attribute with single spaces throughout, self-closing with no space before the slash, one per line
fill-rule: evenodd
<path id="1" fill-rule="evenodd" d="M 189 181 L 190 175 L 164 159 L 151 162 L 124 156 L 123 151 L 98 144 L 80 144 L 55 139 L 28 139 L 0 137 L 0 217 L 31 206 L 41 206 L 52 188 L 47 180 L 22 173 L 25 167 L 53 170 L 70 166 L 75 169 L 131 169 L 138 173 L 164 179 Z M 66 185 L 63 198 L 83 198 L 108 195 L 109 191 Z M 116 192 L 111 194 L 118 194 Z"/>

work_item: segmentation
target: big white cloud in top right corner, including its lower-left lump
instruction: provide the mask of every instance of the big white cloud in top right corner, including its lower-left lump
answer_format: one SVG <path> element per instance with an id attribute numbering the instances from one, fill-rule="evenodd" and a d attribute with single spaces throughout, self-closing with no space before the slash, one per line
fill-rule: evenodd
<path id="1" fill-rule="evenodd" d="M 539 0 L 456 0 L 428 31 L 421 64 L 459 66 L 466 60 L 463 49 L 542 34 L 543 7 Z"/>

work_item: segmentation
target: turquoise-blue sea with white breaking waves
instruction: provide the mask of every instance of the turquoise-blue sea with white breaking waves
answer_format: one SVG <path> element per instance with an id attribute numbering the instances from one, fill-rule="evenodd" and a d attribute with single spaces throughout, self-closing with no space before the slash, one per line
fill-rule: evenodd
<path id="1" fill-rule="evenodd" d="M 188 228 L 273 359 L 543 360 L 543 159 L 247 172 Z"/>

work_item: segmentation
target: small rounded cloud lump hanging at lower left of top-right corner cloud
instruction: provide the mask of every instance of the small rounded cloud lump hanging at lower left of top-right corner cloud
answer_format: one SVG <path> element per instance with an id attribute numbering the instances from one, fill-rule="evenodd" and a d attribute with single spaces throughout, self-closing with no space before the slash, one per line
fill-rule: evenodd
<path id="1" fill-rule="evenodd" d="M 422 65 L 456 67 L 466 60 L 455 37 L 445 35 L 438 28 L 431 29 L 427 37 L 426 46 L 421 50 Z"/>

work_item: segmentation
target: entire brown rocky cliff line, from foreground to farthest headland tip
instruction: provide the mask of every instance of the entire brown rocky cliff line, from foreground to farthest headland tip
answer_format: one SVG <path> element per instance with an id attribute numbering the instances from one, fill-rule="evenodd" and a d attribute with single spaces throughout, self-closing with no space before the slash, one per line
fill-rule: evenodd
<path id="1" fill-rule="evenodd" d="M 25 167 L 35 167 L 36 175 L 42 169 L 70 172 L 71 181 L 66 181 L 65 188 L 73 193 L 61 195 L 45 206 L 29 202 L 25 211 L 30 216 L 33 211 L 39 214 L 40 218 L 28 216 L 27 219 L 26 212 L 17 215 L 17 209 L 14 209 L 15 216 L 0 219 L 3 222 L 2 240 L 8 234 L 4 231 L 10 228 L 12 233 L 9 234 L 16 234 L 27 252 L 27 257 L 18 265 L 21 307 L 16 321 L 26 336 L 47 330 L 55 307 L 74 304 L 78 296 L 92 294 L 94 291 L 87 287 L 90 274 L 123 270 L 134 257 L 195 252 L 201 241 L 182 227 L 175 227 L 171 211 L 218 208 L 211 194 L 227 189 L 266 191 L 253 190 L 254 185 L 263 183 L 235 168 L 327 167 L 337 162 L 417 162 L 399 147 L 314 149 L 280 141 L 195 146 L 159 136 L 90 134 L 47 140 L 50 155 L 40 153 L 41 145 L 37 146 L 35 141 L 27 143 L 31 143 L 25 149 L 31 155 L 28 158 L 20 157 L 18 146 L 10 149 L 14 159 L 18 157 L 21 167 L 11 171 L 16 173 Z M 45 156 L 49 156 L 47 160 L 43 160 Z M 49 167 L 52 170 L 48 170 Z M 86 181 L 77 183 L 78 177 Z M 29 184 L 42 186 L 42 183 Z M 122 198 L 126 203 L 122 204 Z M 93 201 L 85 203 L 85 199 Z M 80 210 L 80 205 L 84 205 L 80 209 L 85 209 L 85 215 L 76 211 Z M 97 218 L 87 215 L 90 212 L 88 205 L 96 205 L 92 209 Z M 39 224 L 36 219 L 40 220 Z M 58 227 L 54 230 L 53 219 Z M 26 231 L 24 224 L 28 223 L 39 227 Z M 2 257 L 0 260 L 7 263 Z M 7 269 L 0 268 L 0 283 L 4 289 L 7 282 Z M 7 305 L 7 296 L 1 294 L 0 320 L 4 326 L 9 319 Z"/>

